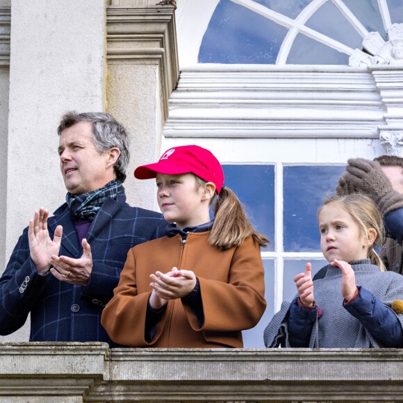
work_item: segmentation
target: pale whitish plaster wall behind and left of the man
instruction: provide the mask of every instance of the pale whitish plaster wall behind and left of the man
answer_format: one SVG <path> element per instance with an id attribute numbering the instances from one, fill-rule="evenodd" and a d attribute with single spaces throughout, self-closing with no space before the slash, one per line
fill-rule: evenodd
<path id="1" fill-rule="evenodd" d="M 13 1 L 11 15 L 6 260 L 35 209 L 65 200 L 61 115 L 104 109 L 106 18 L 104 0 Z"/>

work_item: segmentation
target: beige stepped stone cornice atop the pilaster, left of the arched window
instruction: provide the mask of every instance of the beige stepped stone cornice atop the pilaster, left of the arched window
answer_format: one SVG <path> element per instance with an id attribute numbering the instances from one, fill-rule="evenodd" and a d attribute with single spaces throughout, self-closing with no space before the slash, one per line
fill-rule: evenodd
<path id="1" fill-rule="evenodd" d="M 165 117 L 179 77 L 173 6 L 156 1 L 115 0 L 107 10 L 108 63 L 156 64 Z"/>

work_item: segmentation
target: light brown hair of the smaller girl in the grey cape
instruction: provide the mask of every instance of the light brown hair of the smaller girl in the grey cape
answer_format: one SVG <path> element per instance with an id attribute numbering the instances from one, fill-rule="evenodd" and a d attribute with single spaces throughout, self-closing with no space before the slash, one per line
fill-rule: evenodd
<path id="1" fill-rule="evenodd" d="M 381 271 L 384 272 L 386 270 L 385 265 L 374 249 L 374 245 L 381 247 L 384 241 L 384 221 L 374 201 L 368 196 L 359 193 L 353 193 L 352 195 L 336 195 L 324 200 L 324 204 L 320 208 L 319 213 L 324 206 L 331 203 L 338 204 L 344 211 L 349 213 L 352 220 L 358 225 L 360 232 L 367 238 L 369 238 L 370 229 L 375 229 L 377 236 L 372 245 L 368 247 L 367 256 L 370 258 L 373 265 L 379 266 Z"/>

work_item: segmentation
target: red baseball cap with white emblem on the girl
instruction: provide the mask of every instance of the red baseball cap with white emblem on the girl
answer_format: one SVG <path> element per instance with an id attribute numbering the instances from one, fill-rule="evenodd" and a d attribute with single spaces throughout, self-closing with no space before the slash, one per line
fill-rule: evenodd
<path id="1" fill-rule="evenodd" d="M 160 161 L 135 168 L 137 179 L 152 179 L 156 174 L 179 175 L 192 173 L 206 182 L 213 182 L 217 193 L 224 184 L 224 172 L 217 158 L 198 145 L 183 145 L 165 151 Z"/>

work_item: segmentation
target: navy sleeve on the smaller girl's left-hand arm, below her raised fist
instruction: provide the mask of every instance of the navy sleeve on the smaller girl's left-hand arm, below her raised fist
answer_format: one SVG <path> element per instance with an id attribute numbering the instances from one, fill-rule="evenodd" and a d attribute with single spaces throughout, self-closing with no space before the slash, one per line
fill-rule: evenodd
<path id="1" fill-rule="evenodd" d="M 315 309 L 306 309 L 298 306 L 298 297 L 295 297 L 290 306 L 288 316 L 288 341 L 291 347 L 309 347 L 313 323 L 318 317 L 318 306 Z"/>

